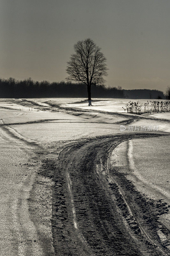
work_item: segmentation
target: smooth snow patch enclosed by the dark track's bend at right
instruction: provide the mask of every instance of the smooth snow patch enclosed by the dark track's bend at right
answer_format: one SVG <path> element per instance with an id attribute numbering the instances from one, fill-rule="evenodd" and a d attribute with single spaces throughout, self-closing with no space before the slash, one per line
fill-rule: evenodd
<path id="1" fill-rule="evenodd" d="M 169 136 L 126 140 L 113 150 L 111 163 L 145 196 L 170 204 L 169 148 Z M 170 228 L 170 214 L 164 218 Z"/>

